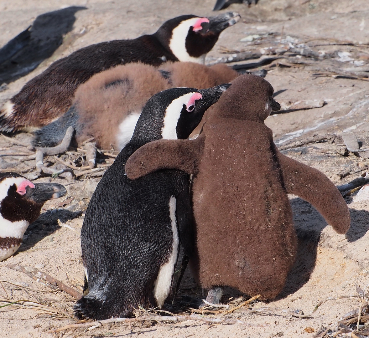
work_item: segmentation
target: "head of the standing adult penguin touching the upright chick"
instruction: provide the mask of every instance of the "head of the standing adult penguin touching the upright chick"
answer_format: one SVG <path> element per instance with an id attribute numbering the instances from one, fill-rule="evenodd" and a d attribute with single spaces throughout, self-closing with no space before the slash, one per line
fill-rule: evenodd
<path id="1" fill-rule="evenodd" d="M 186 139 L 206 109 L 217 102 L 229 83 L 208 89 L 170 88 L 152 96 L 139 117 L 130 143 Z"/>

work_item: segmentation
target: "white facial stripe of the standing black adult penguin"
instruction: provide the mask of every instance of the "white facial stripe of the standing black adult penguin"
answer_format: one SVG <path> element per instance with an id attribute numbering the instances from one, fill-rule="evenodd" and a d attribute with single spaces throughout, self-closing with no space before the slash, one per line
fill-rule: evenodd
<path id="1" fill-rule="evenodd" d="M 177 139 L 177 123 L 179 116 L 181 115 L 181 111 L 183 105 L 186 105 L 187 102 L 191 99 L 192 95 L 195 93 L 188 93 L 180 96 L 173 100 L 170 105 L 166 108 L 164 115 L 164 123 L 161 135 L 163 139 L 168 140 L 176 140 Z"/>

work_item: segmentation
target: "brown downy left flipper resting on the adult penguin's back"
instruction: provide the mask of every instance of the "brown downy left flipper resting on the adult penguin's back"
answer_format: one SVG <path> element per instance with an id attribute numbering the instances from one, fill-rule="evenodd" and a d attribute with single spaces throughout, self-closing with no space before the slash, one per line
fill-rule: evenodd
<path id="1" fill-rule="evenodd" d="M 156 140 L 137 149 L 125 164 L 125 173 L 131 180 L 160 169 L 177 169 L 197 174 L 203 153 L 205 135 L 195 140 Z"/>

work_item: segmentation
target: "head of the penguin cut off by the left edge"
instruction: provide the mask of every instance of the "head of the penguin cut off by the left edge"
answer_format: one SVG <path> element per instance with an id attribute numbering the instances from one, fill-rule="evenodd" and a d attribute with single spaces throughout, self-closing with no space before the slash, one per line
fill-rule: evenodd
<path id="1" fill-rule="evenodd" d="M 59 198 L 66 189 L 56 183 L 32 183 L 17 173 L 0 174 L 0 222 L 34 222 L 48 199 Z M 28 225 L 27 225 L 28 226 Z M 0 230 L 0 236 L 1 230 Z"/>

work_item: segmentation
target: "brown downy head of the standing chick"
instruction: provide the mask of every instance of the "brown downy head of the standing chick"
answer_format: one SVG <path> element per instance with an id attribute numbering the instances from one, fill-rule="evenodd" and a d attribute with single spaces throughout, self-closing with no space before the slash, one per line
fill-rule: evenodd
<path id="1" fill-rule="evenodd" d="M 273 87 L 260 76 L 245 74 L 231 81 L 232 87 L 219 101 L 214 115 L 263 122 L 280 109 L 273 100 Z"/>

